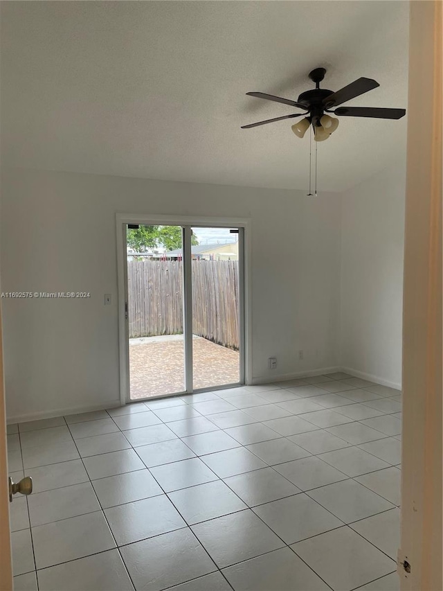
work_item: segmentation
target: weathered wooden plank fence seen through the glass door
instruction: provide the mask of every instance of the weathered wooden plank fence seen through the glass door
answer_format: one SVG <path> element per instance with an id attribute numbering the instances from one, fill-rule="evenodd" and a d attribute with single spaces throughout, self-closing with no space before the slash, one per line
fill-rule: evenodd
<path id="1" fill-rule="evenodd" d="M 183 263 L 128 261 L 129 338 L 183 333 Z M 238 261 L 192 261 L 192 333 L 239 348 Z"/>

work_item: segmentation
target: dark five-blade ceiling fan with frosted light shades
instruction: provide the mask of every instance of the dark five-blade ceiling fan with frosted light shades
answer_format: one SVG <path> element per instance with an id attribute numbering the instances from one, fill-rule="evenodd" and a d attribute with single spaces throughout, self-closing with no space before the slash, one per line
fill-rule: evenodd
<path id="1" fill-rule="evenodd" d="M 282 117 L 275 117 L 273 119 L 266 119 L 266 121 L 258 121 L 257 123 L 250 123 L 249 125 L 242 125 L 242 129 L 250 129 L 257 127 L 257 125 L 265 125 L 266 123 L 273 123 L 273 121 L 282 121 L 282 119 L 290 119 L 293 117 L 305 118 L 298 123 L 292 125 L 292 131 L 298 136 L 303 137 L 310 125 L 314 128 L 314 140 L 324 141 L 328 139 L 338 127 L 338 119 L 329 116 L 327 113 L 342 117 L 375 117 L 380 119 L 399 119 L 406 114 L 406 109 L 380 109 L 379 107 L 338 107 L 351 100 L 356 96 L 360 96 L 377 86 L 378 82 L 371 78 L 358 78 L 349 85 L 334 92 L 320 88 L 320 82 L 325 78 L 325 68 L 316 68 L 309 73 L 309 78 L 315 82 L 315 89 L 302 92 L 297 100 L 289 100 L 288 98 L 281 98 L 280 96 L 273 96 L 272 94 L 264 94 L 263 92 L 246 92 L 248 96 L 256 96 L 257 98 L 265 98 L 266 100 L 275 100 L 276 103 L 284 103 L 284 105 L 291 105 L 291 107 L 298 107 L 304 109 L 304 113 L 293 113 L 291 115 L 284 115 Z M 338 107 L 336 109 L 335 107 Z M 332 110 L 334 109 L 335 110 Z"/>

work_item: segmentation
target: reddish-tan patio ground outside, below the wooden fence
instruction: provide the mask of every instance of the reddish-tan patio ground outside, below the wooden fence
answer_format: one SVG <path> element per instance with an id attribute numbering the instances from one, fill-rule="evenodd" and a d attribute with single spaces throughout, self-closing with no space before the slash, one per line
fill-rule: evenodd
<path id="1" fill-rule="evenodd" d="M 239 382 L 238 351 L 203 337 L 192 343 L 194 389 Z M 183 391 L 183 335 L 130 339 L 129 372 L 131 400 Z"/>

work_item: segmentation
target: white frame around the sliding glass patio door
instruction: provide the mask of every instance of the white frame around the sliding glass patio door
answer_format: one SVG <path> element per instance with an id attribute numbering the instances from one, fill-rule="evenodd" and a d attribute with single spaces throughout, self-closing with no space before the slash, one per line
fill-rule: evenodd
<path id="1" fill-rule="evenodd" d="M 180 396 L 192 391 L 223 389 L 210 387 L 192 389 L 192 283 L 184 281 L 186 265 L 191 263 L 191 227 L 221 227 L 239 229 L 239 331 L 240 331 L 240 384 L 252 383 L 252 307 L 251 307 L 251 220 L 249 218 L 209 218 L 188 215 L 157 215 L 147 213 L 117 213 L 117 276 L 118 276 L 118 342 L 120 364 L 120 403 L 135 402 L 130 400 L 129 387 L 129 327 L 127 322 L 127 254 L 126 225 L 170 225 L 183 228 L 183 312 L 185 334 L 185 376 L 186 391 L 174 394 L 159 394 L 154 398 Z M 230 385 L 226 385 L 230 387 Z"/>

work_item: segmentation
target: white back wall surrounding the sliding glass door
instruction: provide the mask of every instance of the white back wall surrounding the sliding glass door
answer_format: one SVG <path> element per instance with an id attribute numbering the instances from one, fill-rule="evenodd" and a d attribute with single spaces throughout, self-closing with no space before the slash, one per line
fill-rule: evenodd
<path id="1" fill-rule="evenodd" d="M 251 218 L 253 378 L 338 365 L 340 195 L 17 169 L 2 192 L 3 291 L 92 296 L 2 300 L 10 421 L 118 403 L 116 212 Z"/>

